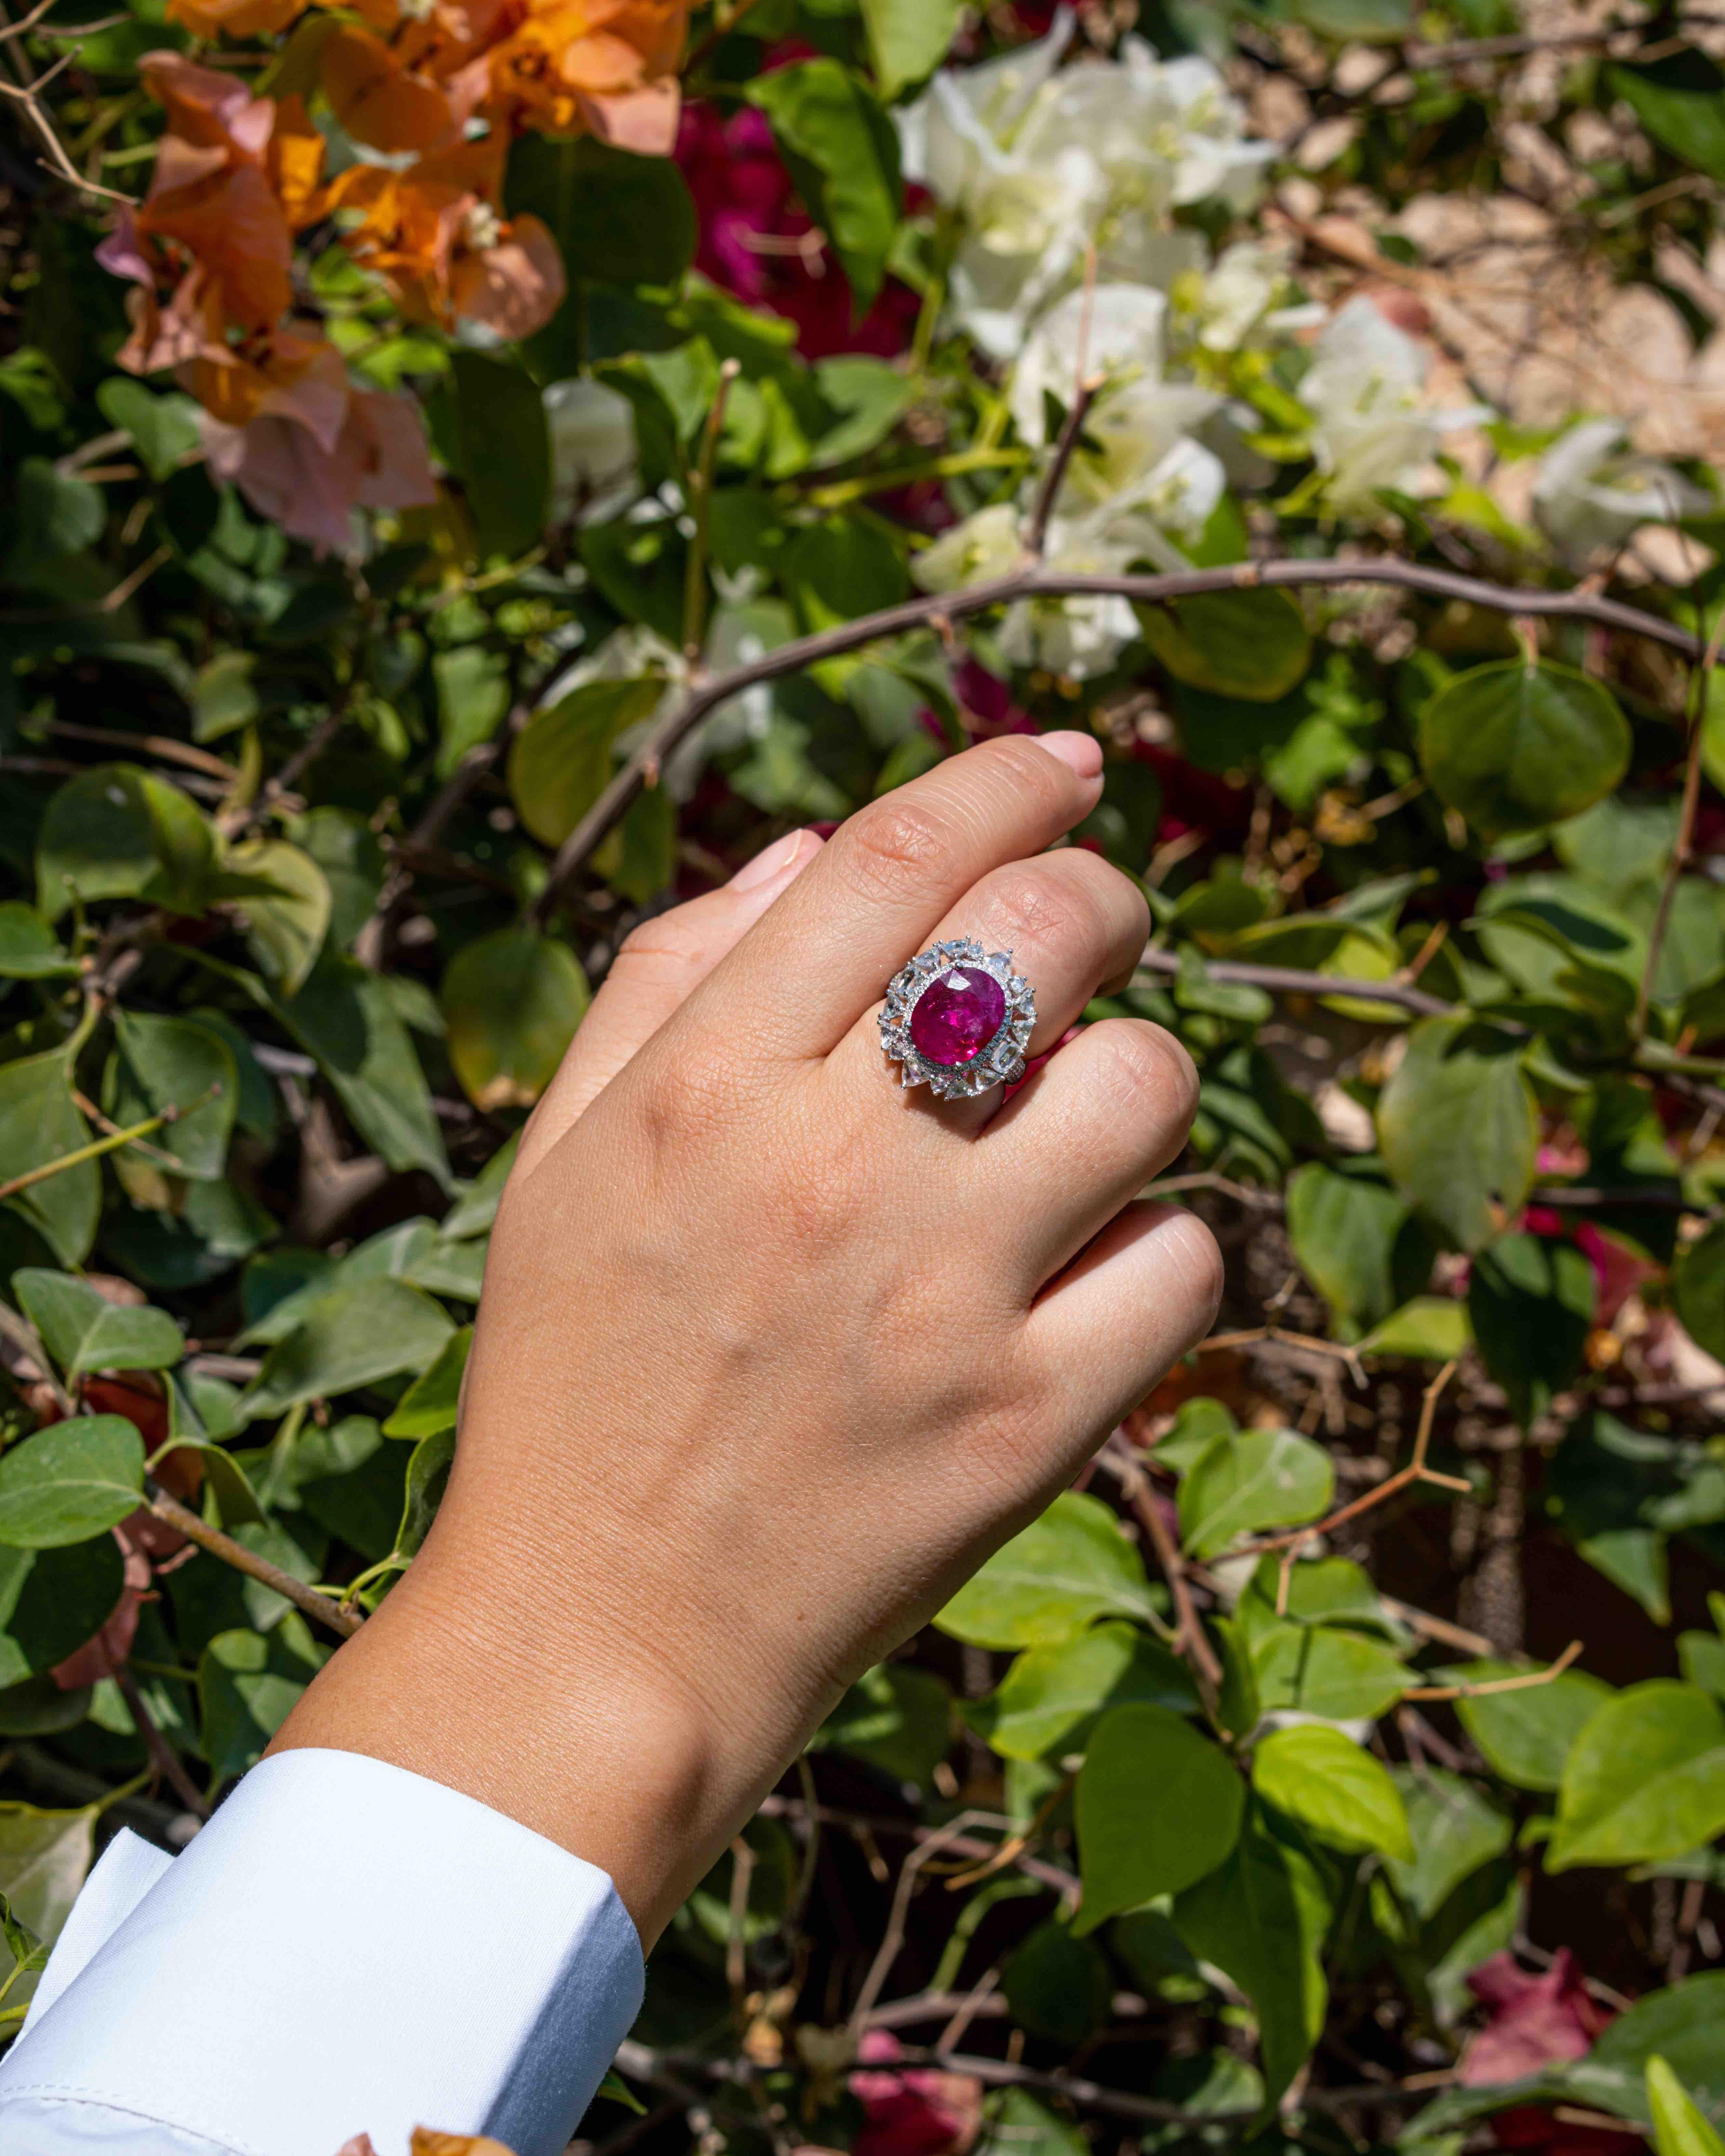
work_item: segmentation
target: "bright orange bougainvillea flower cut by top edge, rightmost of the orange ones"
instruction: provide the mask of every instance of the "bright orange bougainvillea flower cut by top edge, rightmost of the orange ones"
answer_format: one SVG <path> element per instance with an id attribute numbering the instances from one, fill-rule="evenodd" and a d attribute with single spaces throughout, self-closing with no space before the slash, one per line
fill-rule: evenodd
<path id="1" fill-rule="evenodd" d="M 688 0 L 548 0 L 474 63 L 487 75 L 485 112 L 511 134 L 586 132 L 668 157 L 686 28 Z"/>

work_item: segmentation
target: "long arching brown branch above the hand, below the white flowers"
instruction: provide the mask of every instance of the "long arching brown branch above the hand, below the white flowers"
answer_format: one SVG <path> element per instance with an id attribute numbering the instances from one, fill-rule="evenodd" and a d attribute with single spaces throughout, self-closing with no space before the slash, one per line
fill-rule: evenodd
<path id="1" fill-rule="evenodd" d="M 1559 621 L 1591 621 L 1604 630 L 1624 630 L 1665 645 L 1684 658 L 1699 658 L 1703 645 L 1688 630 L 1639 606 L 1624 606 L 1596 591 L 1520 591 L 1490 584 L 1484 578 L 1462 576 L 1455 569 L 1432 569 L 1425 563 L 1395 561 L 1266 561 L 1231 563 L 1214 569 L 1179 569 L 1167 576 L 1067 576 L 1029 565 L 1011 576 L 994 578 L 988 584 L 972 584 L 964 591 L 925 593 L 921 599 L 906 599 L 888 606 L 880 614 L 865 614 L 858 621 L 841 621 L 815 636 L 800 636 L 794 642 L 763 651 L 759 658 L 731 666 L 727 673 L 690 681 L 686 694 L 649 731 L 640 748 L 630 757 L 586 815 L 576 824 L 558 847 L 546 888 L 533 906 L 537 925 L 556 912 L 563 886 L 576 875 L 593 847 L 623 817 L 630 802 L 647 785 L 647 774 L 658 772 L 671 750 L 690 735 L 709 711 L 761 681 L 778 681 L 785 675 L 804 673 L 819 660 L 841 658 L 860 651 L 865 645 L 886 636 L 903 636 L 908 630 L 923 630 L 936 617 L 955 619 L 985 614 L 996 606 L 1013 606 L 1020 599 L 1065 599 L 1065 597 L 1119 597 L 1141 604 L 1164 599 L 1199 597 L 1208 591 L 1251 591 L 1257 586 L 1337 586 L 1337 584 L 1391 584 L 1399 591 L 1417 591 L 1434 599 L 1460 599 L 1484 606 L 1499 614 L 1542 614 Z M 1399 1000 L 1384 987 L 1371 987 L 1380 1003 Z M 1404 994 L 1417 994 L 1408 990 Z"/>

